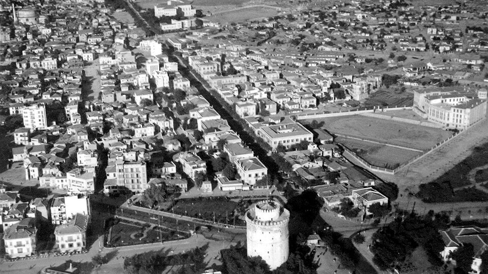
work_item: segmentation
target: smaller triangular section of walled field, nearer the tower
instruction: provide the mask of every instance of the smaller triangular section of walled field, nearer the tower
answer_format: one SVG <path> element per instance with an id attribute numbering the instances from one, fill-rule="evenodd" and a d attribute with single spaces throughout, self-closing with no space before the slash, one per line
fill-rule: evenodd
<path id="1" fill-rule="evenodd" d="M 395 148 L 348 138 L 337 138 L 335 142 L 343 144 L 345 147 L 356 152 L 358 156 L 368 161 L 370 164 L 379 167 L 394 167 L 396 165 L 405 163 L 415 156 L 421 154 L 420 152 L 412 150 Z"/>

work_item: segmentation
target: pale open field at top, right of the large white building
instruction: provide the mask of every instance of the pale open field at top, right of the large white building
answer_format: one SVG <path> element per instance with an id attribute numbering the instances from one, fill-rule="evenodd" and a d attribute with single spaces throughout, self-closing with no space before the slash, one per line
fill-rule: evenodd
<path id="1" fill-rule="evenodd" d="M 214 22 L 225 24 L 258 18 L 268 18 L 278 15 L 278 13 L 279 11 L 277 9 L 257 6 L 252 8 L 234 9 L 228 12 L 222 12 L 219 14 L 214 14 L 212 16 L 207 16 L 205 18 Z"/>

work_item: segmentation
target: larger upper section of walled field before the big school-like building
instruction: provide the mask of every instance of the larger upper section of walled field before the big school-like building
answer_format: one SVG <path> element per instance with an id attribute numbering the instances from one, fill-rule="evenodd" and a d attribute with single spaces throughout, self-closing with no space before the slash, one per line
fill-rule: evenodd
<path id="1" fill-rule="evenodd" d="M 452 135 L 442 129 L 358 115 L 317 120 L 325 121 L 324 127 L 332 133 L 419 150 L 428 150 Z"/>

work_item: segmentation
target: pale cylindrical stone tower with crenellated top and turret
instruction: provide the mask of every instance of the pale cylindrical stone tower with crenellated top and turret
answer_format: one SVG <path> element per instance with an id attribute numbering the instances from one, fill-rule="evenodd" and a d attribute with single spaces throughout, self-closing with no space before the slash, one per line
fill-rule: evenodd
<path id="1" fill-rule="evenodd" d="M 271 270 L 286 262 L 289 220 L 290 213 L 278 202 L 257 202 L 246 212 L 248 256 L 261 256 Z"/>

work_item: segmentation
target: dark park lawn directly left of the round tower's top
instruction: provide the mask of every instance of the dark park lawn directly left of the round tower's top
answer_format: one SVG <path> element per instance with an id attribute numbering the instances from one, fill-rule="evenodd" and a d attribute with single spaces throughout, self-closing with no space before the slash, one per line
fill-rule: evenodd
<path id="1" fill-rule="evenodd" d="M 234 224 L 234 217 L 235 225 L 246 225 L 238 214 L 234 214 L 238 205 L 238 202 L 225 197 L 178 199 L 168 212 L 207 221 L 214 221 L 215 214 L 215 221 L 223 224 Z"/>

